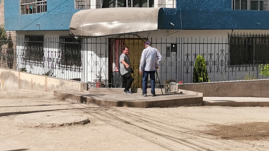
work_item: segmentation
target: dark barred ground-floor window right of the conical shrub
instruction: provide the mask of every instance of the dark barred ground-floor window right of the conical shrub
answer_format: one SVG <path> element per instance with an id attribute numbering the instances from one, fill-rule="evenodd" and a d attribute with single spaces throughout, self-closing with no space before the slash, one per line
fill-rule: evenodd
<path id="1" fill-rule="evenodd" d="M 269 36 L 230 36 L 230 65 L 268 64 Z"/>

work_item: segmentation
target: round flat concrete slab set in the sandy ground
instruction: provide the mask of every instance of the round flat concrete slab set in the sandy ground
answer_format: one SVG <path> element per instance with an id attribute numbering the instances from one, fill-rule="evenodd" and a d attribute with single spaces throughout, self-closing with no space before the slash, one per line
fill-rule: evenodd
<path id="1" fill-rule="evenodd" d="M 85 116 L 74 113 L 39 112 L 16 116 L 13 124 L 19 127 L 60 127 L 90 123 Z"/>

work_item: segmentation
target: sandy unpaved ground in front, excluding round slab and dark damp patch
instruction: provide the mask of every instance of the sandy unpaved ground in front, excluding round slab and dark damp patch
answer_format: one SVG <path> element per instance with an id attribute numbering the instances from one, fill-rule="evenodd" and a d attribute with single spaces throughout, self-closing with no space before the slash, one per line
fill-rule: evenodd
<path id="1" fill-rule="evenodd" d="M 35 112 L 78 113 L 88 117 L 91 123 L 54 128 L 26 128 L 13 124 L 16 116 Z M 229 129 L 229 125 L 268 122 L 268 115 L 268 107 L 128 108 L 99 107 L 71 101 L 2 98 L 0 150 L 268 151 L 266 135 L 264 139 L 248 140 L 246 136 L 246 140 L 235 140 L 209 133 L 213 125 Z M 259 131 L 269 135 L 268 131 Z"/>

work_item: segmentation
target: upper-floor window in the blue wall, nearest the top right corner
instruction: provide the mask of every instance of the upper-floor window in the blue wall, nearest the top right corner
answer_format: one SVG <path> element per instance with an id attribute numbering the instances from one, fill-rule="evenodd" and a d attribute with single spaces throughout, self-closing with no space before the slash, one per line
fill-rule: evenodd
<path id="1" fill-rule="evenodd" d="M 268 10 L 267 0 L 232 0 L 233 10 Z"/>

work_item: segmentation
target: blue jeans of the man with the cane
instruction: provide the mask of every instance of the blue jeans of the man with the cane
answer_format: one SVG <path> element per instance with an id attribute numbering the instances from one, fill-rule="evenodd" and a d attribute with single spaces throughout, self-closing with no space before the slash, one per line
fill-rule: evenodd
<path id="1" fill-rule="evenodd" d="M 148 78 L 151 83 L 151 93 L 155 92 L 155 72 L 156 71 L 143 71 L 142 74 L 142 92 L 147 93 Z"/>

